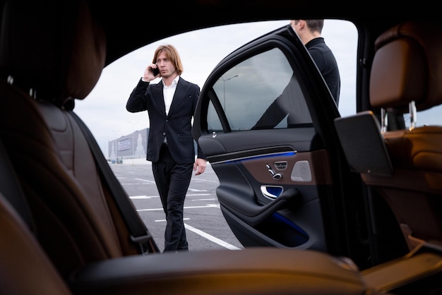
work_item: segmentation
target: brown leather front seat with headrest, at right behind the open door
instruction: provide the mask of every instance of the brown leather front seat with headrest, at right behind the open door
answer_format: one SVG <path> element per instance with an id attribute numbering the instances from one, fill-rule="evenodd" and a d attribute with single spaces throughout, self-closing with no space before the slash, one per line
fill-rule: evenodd
<path id="1" fill-rule="evenodd" d="M 380 35 L 375 49 L 370 103 L 381 109 L 381 124 L 371 112 L 369 128 L 373 129 L 374 121 L 380 125 L 378 136 L 371 139 L 381 148 L 376 152 L 368 147 L 354 149 L 359 139 L 354 128 L 365 134 L 367 124 L 359 123 L 367 112 L 335 120 L 342 148 L 362 180 L 386 199 L 410 249 L 424 241 L 441 242 L 442 127 L 416 127 L 414 122 L 417 112 L 442 104 L 442 28 L 431 23 L 402 23 Z M 410 128 L 388 130 L 388 115 L 407 113 Z M 353 135 L 345 133 L 349 129 Z M 378 173 L 376 161 L 371 161 L 374 153 L 383 153 L 382 167 L 390 165 L 390 169 Z"/>

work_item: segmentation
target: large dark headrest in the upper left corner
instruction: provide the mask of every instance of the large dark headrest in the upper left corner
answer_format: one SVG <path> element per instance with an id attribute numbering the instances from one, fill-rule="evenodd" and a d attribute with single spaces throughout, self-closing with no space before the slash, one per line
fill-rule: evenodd
<path id="1" fill-rule="evenodd" d="M 0 73 L 21 89 L 64 105 L 85 98 L 104 68 L 104 30 L 87 1 L 12 0 L 4 6 Z"/>

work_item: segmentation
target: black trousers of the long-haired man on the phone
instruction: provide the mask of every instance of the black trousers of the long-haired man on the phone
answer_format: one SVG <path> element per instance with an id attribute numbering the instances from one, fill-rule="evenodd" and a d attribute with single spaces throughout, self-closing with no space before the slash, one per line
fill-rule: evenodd
<path id="1" fill-rule="evenodd" d="M 189 251 L 183 211 L 184 199 L 191 182 L 193 163 L 175 162 L 167 145 L 162 145 L 160 159 L 152 163 L 152 169 L 167 220 L 164 251 Z"/>

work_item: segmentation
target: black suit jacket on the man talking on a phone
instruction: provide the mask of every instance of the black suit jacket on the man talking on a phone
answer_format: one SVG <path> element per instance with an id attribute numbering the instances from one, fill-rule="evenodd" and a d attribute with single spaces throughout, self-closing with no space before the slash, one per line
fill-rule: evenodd
<path id="1" fill-rule="evenodd" d="M 161 145 L 167 137 L 169 152 L 175 162 L 193 163 L 195 145 L 191 134 L 191 119 L 200 95 L 200 88 L 180 77 L 167 115 L 162 89 L 162 81 L 150 84 L 140 79 L 129 96 L 126 109 L 132 113 L 148 111 L 150 131 L 147 159 L 149 161 L 157 162 Z M 205 159 L 199 146 L 198 158 Z"/>

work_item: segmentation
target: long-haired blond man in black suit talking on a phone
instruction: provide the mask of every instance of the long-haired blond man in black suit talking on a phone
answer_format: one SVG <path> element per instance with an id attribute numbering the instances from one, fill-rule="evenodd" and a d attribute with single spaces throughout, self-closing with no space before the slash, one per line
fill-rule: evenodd
<path id="1" fill-rule="evenodd" d="M 206 165 L 199 145 L 195 155 L 191 136 L 191 119 L 200 88 L 181 78 L 182 72 L 177 49 L 161 45 L 126 104 L 129 112 L 147 110 L 149 114 L 147 159 L 152 162 L 167 219 L 164 251 L 189 250 L 183 222 L 184 198 L 192 170 L 195 175 L 202 174 Z M 162 78 L 160 83 L 150 84 L 158 77 Z"/>

